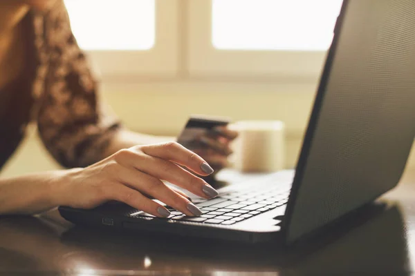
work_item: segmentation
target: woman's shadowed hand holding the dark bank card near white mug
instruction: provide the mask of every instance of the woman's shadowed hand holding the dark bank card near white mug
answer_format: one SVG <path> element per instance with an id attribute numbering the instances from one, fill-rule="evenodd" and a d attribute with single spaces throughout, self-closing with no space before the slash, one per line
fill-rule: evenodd
<path id="1" fill-rule="evenodd" d="M 232 154 L 230 143 L 237 136 L 237 131 L 219 126 L 205 132 L 203 135 L 194 137 L 193 141 L 179 140 L 178 143 L 203 157 L 214 168 L 216 173 L 228 166 L 228 156 Z"/>

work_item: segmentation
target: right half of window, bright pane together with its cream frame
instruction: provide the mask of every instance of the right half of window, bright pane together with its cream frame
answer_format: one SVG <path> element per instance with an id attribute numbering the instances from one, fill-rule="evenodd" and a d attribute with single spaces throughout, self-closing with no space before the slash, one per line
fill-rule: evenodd
<path id="1" fill-rule="evenodd" d="M 206 0 L 189 3 L 189 72 L 194 76 L 320 76 L 341 0 Z"/>

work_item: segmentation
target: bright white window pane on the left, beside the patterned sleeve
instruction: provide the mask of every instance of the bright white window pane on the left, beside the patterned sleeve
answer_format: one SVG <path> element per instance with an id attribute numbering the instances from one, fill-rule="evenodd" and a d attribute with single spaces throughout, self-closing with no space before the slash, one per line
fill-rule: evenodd
<path id="1" fill-rule="evenodd" d="M 154 0 L 66 0 L 65 4 L 73 33 L 86 50 L 148 50 L 154 45 Z"/>

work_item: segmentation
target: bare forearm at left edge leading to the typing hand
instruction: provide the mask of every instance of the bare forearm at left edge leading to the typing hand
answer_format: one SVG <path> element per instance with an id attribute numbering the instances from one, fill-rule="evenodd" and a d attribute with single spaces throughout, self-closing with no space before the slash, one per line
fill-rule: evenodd
<path id="1" fill-rule="evenodd" d="M 32 215 L 59 206 L 64 170 L 0 179 L 0 215 Z"/>

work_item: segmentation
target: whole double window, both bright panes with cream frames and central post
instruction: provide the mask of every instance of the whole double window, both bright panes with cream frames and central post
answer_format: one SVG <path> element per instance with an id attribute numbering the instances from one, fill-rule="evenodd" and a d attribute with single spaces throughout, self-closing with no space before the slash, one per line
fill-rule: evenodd
<path id="1" fill-rule="evenodd" d="M 342 0 L 65 0 L 104 81 L 315 81 Z M 92 14 L 92 15 L 91 15 Z"/>

